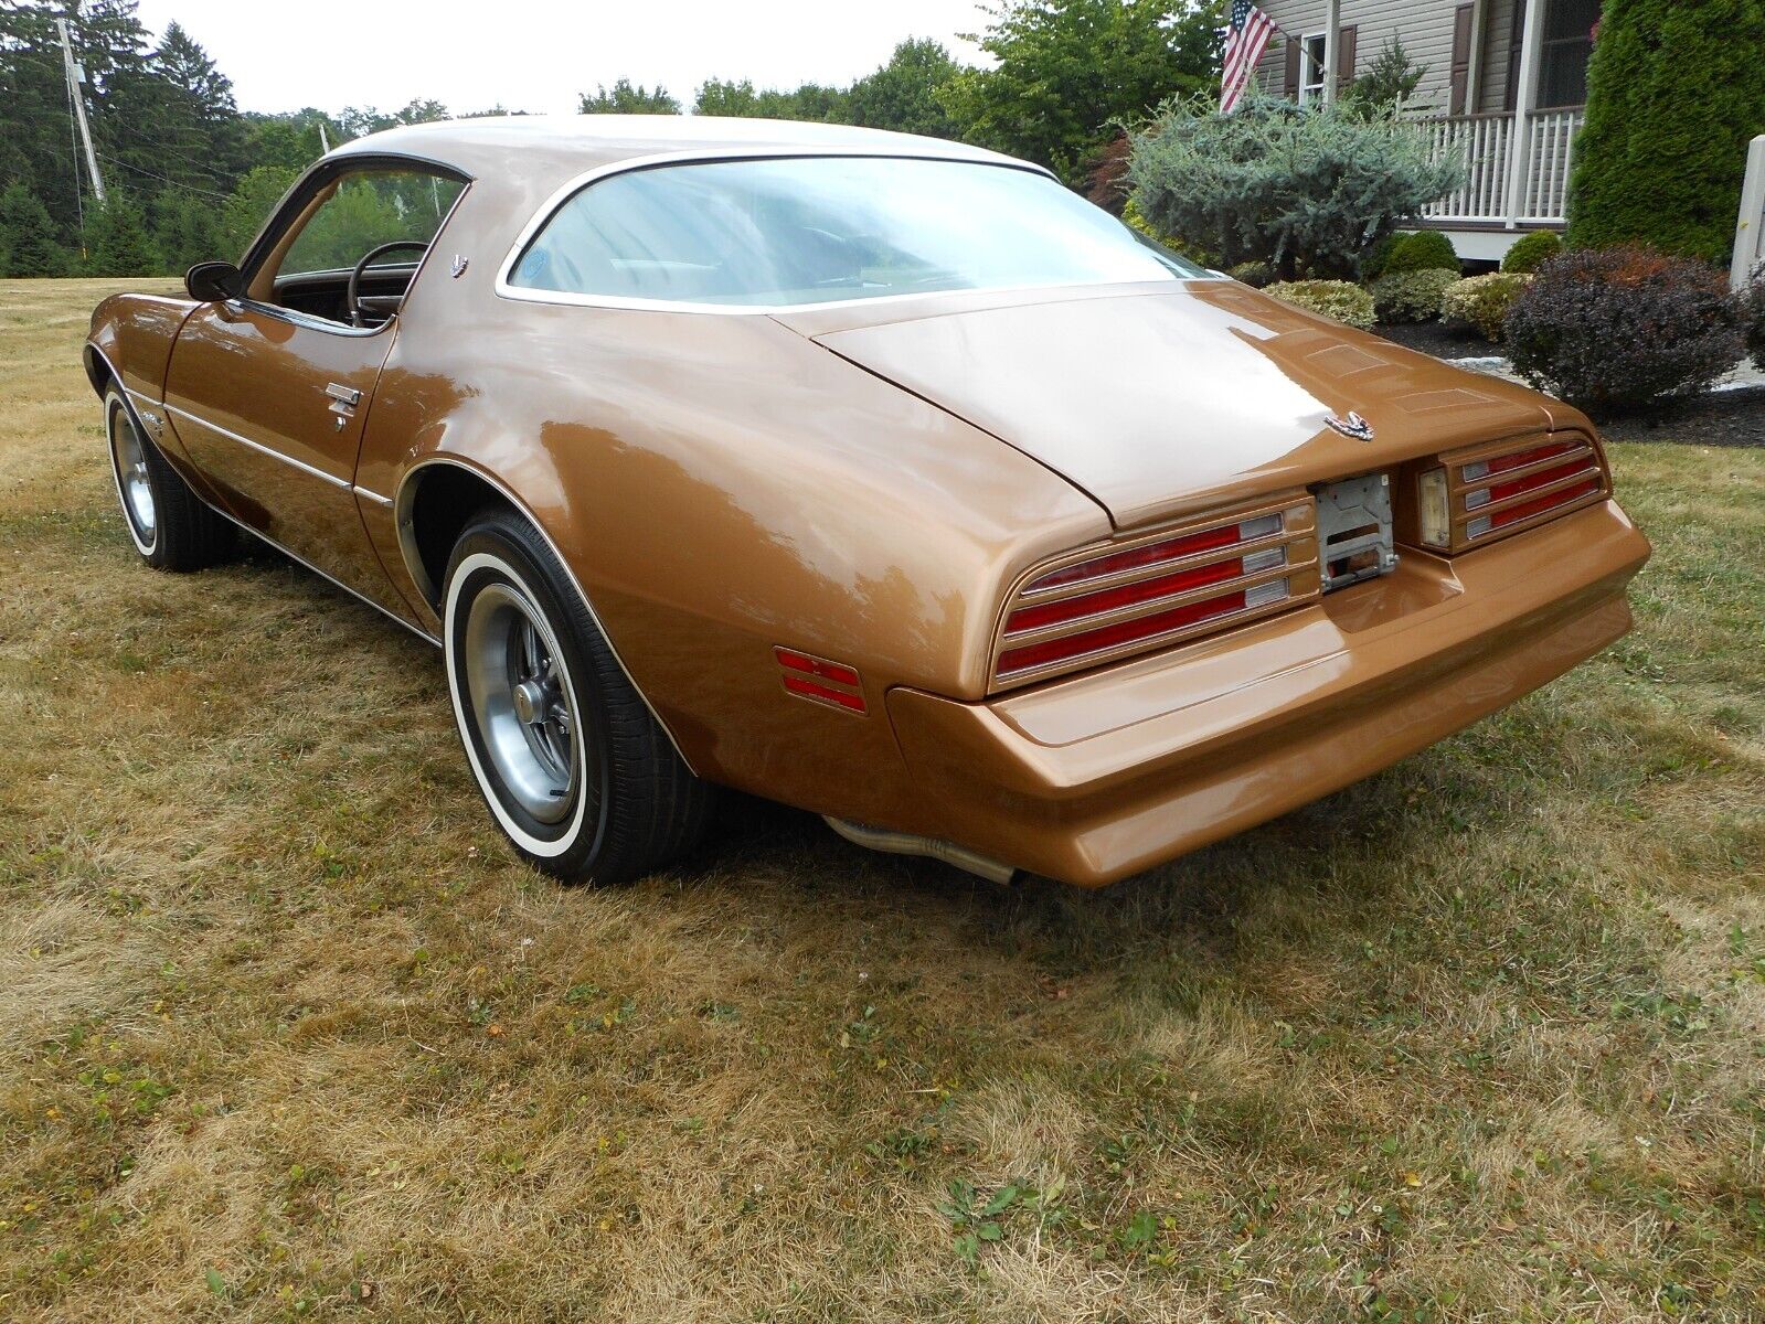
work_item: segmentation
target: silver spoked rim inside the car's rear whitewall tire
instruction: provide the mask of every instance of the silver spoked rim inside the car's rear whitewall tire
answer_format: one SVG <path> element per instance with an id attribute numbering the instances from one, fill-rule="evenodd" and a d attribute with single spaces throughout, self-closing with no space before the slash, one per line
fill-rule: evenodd
<path id="1" fill-rule="evenodd" d="M 461 662 L 478 738 L 508 794 L 538 823 L 560 823 L 581 789 L 575 699 L 545 614 L 512 584 L 471 600 Z"/>

